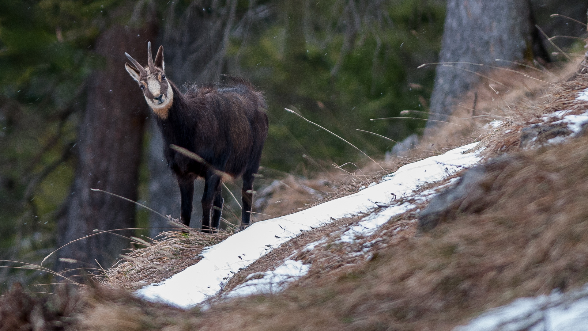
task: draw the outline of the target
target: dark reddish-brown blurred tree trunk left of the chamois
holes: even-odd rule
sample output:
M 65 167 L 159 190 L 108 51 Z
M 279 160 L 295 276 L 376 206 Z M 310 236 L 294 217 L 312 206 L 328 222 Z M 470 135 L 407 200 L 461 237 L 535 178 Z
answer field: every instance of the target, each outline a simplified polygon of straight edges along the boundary
M 135 205 L 99 188 L 136 200 L 143 128 L 148 107 L 136 82 L 124 69 L 125 52 L 146 63 L 147 42 L 156 36 L 155 24 L 141 29 L 115 26 L 101 34 L 96 53 L 105 58 L 102 70 L 88 83 L 88 105 L 78 131 L 78 164 L 65 213 L 58 220 L 57 246 L 88 236 L 93 230 L 135 226 Z M 56 270 L 96 266 L 107 268 L 118 259 L 132 230 L 102 233 L 58 250 Z M 79 272 L 76 272 L 79 273 Z

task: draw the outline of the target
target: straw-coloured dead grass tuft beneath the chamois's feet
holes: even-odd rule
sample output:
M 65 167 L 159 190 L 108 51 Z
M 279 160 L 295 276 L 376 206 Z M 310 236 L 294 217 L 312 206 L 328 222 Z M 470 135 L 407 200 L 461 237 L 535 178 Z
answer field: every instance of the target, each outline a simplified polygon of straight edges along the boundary
M 108 286 L 129 290 L 162 282 L 201 260 L 199 254 L 205 247 L 220 243 L 230 234 L 227 231 L 207 234 L 197 230 L 163 232 L 151 243 L 137 241 L 135 244 L 146 247 L 122 256 L 99 279 Z

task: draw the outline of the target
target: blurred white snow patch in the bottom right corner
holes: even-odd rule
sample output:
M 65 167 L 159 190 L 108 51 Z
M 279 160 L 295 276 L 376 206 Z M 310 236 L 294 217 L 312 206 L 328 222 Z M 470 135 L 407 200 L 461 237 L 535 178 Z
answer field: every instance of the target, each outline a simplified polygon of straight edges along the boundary
M 483 313 L 455 331 L 588 331 L 588 285 L 548 296 L 524 297 Z

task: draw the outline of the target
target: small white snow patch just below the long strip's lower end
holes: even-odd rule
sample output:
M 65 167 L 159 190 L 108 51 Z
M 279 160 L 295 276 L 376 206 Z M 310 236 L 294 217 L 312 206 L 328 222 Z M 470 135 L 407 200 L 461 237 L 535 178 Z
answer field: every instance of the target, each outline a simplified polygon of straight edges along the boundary
M 288 283 L 308 273 L 310 267 L 302 261 L 286 260 L 275 270 L 264 273 L 253 273 L 245 283 L 239 284 L 226 294 L 226 297 L 248 296 L 251 294 L 276 293 L 284 289 Z

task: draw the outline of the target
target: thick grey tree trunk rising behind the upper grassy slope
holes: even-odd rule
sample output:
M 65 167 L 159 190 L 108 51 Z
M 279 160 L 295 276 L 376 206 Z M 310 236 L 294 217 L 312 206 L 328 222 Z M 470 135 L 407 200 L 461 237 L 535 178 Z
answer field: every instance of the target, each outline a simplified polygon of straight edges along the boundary
M 529 1 L 449 0 L 439 62 L 497 66 L 505 63 L 495 61 L 497 58 L 521 61 L 526 57 L 549 62 L 538 38 Z M 479 81 L 467 70 L 487 68 L 464 63 L 437 66 L 429 119 L 446 121 L 457 98 Z M 427 128 L 436 124 L 429 121 Z

